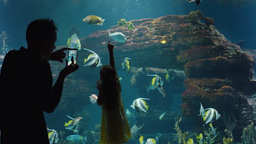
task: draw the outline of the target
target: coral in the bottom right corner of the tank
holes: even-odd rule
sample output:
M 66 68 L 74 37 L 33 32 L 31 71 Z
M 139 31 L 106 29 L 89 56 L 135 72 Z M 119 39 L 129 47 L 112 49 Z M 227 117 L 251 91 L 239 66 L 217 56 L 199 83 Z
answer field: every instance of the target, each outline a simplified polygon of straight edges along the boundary
M 247 125 L 247 128 L 243 129 L 243 134 L 241 136 L 242 143 L 245 142 L 245 143 L 255 144 L 255 137 L 256 137 L 256 130 L 252 122 L 252 124 Z

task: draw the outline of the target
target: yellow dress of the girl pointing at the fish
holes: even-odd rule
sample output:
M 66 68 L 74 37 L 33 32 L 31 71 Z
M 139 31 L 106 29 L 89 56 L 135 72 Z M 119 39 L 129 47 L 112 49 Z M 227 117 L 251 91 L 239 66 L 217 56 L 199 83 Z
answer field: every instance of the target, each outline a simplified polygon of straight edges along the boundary
M 121 87 L 118 88 L 119 109 L 102 108 L 100 144 L 120 144 L 132 137 L 130 126 L 121 100 Z

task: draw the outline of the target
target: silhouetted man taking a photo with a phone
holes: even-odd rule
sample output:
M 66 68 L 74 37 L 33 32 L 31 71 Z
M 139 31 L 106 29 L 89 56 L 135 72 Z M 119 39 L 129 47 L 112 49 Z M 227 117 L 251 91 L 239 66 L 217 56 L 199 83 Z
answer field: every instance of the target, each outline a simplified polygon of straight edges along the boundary
M 4 58 L 0 74 L 1 144 L 49 143 L 43 111 L 55 110 L 65 77 L 79 69 L 66 61 L 53 86 L 48 61 L 63 62 L 68 50 L 53 52 L 56 31 L 53 20 L 32 21 L 26 31 L 27 49 L 11 50 Z

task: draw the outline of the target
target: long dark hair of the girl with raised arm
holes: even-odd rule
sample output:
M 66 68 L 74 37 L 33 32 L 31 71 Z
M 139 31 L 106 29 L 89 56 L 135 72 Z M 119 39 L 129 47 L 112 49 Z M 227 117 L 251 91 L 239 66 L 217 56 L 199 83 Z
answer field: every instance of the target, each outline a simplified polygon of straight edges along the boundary
M 102 96 L 106 101 L 106 109 L 114 109 L 118 106 L 118 76 L 110 65 L 103 65 L 100 71 Z

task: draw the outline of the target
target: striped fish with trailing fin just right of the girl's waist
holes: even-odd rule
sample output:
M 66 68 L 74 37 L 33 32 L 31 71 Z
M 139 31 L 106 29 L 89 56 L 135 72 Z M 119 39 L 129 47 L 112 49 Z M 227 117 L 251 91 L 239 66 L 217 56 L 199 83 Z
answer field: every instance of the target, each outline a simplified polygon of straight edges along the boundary
M 136 110 L 137 112 L 141 112 L 141 111 L 147 112 L 148 105 L 146 101 L 144 101 L 143 99 L 146 99 L 146 98 L 138 98 L 134 100 L 131 105 L 132 109 Z M 147 99 L 147 100 L 151 100 L 151 99 Z

